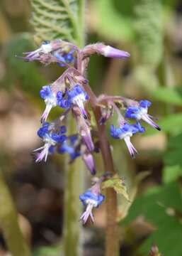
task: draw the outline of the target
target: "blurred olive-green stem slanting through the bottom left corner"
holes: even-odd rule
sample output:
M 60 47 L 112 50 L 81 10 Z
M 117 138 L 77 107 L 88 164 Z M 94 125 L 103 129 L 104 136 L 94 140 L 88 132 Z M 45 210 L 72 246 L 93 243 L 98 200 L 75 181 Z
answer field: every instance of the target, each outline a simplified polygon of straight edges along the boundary
M 3 174 L 0 172 L 0 226 L 6 241 L 8 250 L 13 256 L 30 256 L 30 250 L 26 244 L 21 229 L 18 225 L 18 215 L 14 206 L 11 193 L 8 190 Z

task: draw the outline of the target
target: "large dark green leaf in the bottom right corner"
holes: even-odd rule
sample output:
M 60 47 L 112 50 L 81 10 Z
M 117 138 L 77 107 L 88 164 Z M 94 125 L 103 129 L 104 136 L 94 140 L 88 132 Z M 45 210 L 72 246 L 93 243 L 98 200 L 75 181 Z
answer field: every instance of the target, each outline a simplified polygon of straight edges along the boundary
M 174 211 L 174 215 L 170 215 L 169 210 Z M 140 247 L 144 255 L 155 243 L 165 256 L 181 256 L 182 225 L 175 212 L 182 213 L 181 191 L 177 183 L 169 183 L 137 198 L 122 223 L 128 225 L 137 217 L 144 216 L 144 220 L 157 228 Z

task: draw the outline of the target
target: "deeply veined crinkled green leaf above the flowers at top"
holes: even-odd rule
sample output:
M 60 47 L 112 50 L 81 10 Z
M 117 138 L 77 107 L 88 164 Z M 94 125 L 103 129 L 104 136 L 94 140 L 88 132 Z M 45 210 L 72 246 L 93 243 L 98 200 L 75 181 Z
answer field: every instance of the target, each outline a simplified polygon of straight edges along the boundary
M 61 38 L 83 45 L 84 0 L 30 0 L 30 4 L 36 41 Z

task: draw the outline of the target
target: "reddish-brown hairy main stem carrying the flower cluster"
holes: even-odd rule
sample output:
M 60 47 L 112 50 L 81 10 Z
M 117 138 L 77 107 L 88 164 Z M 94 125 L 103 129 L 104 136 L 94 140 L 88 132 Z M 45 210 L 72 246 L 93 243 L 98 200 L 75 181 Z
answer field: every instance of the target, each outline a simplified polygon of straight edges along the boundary
M 101 146 L 101 154 L 103 157 L 103 164 L 105 172 L 109 172 L 111 175 L 115 174 L 113 165 L 113 157 L 110 151 L 110 145 L 108 137 L 106 135 L 106 127 L 104 124 L 99 124 L 98 120 L 101 118 L 101 110 L 97 106 L 96 95 L 91 90 L 91 87 L 85 85 L 85 90 L 89 95 L 93 113 L 96 118 L 98 128 L 98 139 Z M 118 240 L 118 224 L 117 218 L 117 194 L 113 188 L 108 188 L 106 191 L 106 256 L 117 256 L 119 253 L 119 240 Z

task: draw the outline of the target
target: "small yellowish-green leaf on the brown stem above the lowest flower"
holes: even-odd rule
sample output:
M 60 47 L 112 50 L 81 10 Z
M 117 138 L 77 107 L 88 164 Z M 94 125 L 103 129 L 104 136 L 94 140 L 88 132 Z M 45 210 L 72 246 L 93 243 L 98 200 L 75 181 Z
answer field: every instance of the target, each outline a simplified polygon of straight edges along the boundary
M 122 180 L 122 178 L 110 178 L 108 181 L 103 181 L 102 189 L 105 188 L 114 188 L 116 193 L 123 195 L 127 201 L 130 201 L 125 182 Z

